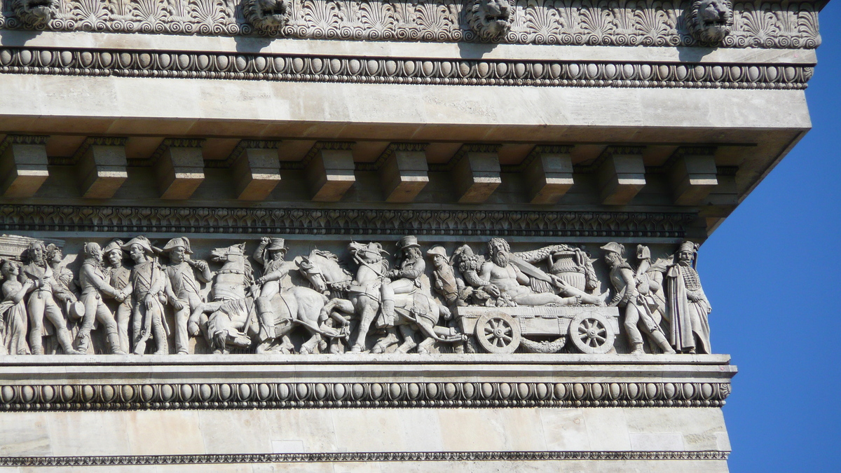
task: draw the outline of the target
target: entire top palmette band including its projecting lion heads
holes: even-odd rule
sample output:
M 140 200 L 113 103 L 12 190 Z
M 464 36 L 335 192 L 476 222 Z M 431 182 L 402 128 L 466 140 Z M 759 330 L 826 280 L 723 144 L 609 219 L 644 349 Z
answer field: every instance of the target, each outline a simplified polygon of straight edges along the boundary
M 0 27 L 54 31 L 538 45 L 722 43 L 812 49 L 820 44 L 815 3 L 785 0 L 5 0 L 3 4 Z

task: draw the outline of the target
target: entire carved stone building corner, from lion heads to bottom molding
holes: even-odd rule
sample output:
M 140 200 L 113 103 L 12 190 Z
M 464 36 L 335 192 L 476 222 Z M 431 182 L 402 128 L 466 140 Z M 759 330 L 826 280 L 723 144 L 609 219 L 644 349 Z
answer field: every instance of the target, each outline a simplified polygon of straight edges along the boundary
M 0 465 L 727 471 L 823 4 L 5 0 Z

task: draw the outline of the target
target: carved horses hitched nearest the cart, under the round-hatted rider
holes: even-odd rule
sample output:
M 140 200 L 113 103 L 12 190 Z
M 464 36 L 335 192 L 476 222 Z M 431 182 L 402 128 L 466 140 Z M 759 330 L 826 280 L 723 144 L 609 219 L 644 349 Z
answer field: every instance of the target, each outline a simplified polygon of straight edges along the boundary
M 359 263 L 357 277 L 341 267 L 336 255 L 331 252 L 313 250 L 308 257 L 300 257 L 299 271 L 315 290 L 322 294 L 330 294 L 331 300 L 322 308 L 321 319 L 332 317 L 335 320 L 352 320 L 354 314 L 359 316 L 360 322 L 356 331 L 355 343 L 351 352 L 361 353 L 365 349 L 365 338 L 368 336 L 371 324 L 380 309 L 380 284 L 383 275 L 389 269 L 388 262 L 383 258 L 383 250 L 379 243 L 363 245 L 351 242 L 348 249 L 353 258 Z M 395 321 L 384 328 L 386 336 L 378 340 L 372 353 L 383 353 L 386 348 L 398 343 L 397 331 L 403 337 L 397 351 L 407 353 L 418 347 L 419 352 L 428 351 L 429 345 L 436 341 L 442 343 L 457 343 L 463 340 L 460 333 L 453 333 L 447 327 L 438 327 L 436 323 L 440 316 L 449 316 L 446 306 L 437 303 L 431 296 L 429 279 L 421 276 L 426 284 L 421 284 L 426 290 L 415 290 L 410 294 L 400 294 L 394 297 Z M 426 339 L 420 345 L 415 343 L 415 327 L 420 328 Z M 338 353 L 338 347 L 331 347 L 331 352 Z

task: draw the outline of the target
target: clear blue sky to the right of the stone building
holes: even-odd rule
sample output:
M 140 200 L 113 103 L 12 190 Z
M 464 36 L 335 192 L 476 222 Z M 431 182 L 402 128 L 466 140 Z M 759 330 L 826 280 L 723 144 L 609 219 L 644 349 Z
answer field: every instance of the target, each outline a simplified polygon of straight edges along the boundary
M 732 471 L 841 470 L 841 2 L 820 23 L 812 130 L 699 257 L 712 348 L 739 368 Z

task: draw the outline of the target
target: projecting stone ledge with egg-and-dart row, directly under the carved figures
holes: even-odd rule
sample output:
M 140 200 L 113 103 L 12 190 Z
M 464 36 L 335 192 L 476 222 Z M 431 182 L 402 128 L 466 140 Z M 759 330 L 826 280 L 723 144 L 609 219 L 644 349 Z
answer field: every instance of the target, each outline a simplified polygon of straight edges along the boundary
M 727 355 L 0 358 L 0 410 L 721 407 Z

